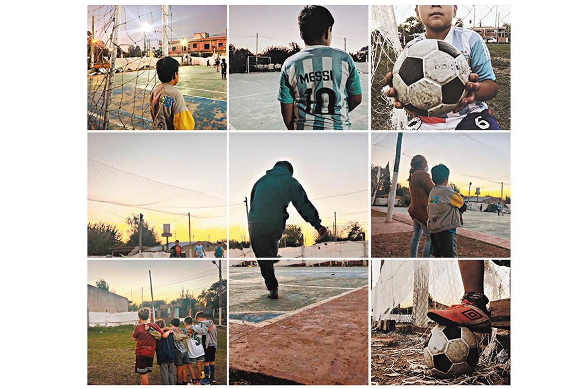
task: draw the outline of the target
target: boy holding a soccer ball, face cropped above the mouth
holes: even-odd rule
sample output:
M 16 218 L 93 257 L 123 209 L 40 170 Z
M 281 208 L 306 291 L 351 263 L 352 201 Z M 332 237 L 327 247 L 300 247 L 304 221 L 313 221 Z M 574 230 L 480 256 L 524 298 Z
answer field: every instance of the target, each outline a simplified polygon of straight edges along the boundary
M 415 116 L 408 122 L 408 129 L 500 129 L 485 104 L 485 101 L 493 99 L 499 92 L 491 65 L 491 54 L 481 36 L 475 31 L 452 25 L 456 11 L 456 5 L 416 6 L 416 15 L 426 27 L 426 31 L 409 41 L 406 47 L 426 38 L 439 39 L 454 45 L 467 58 L 471 68 L 472 73 L 466 84 L 468 94 L 453 112 L 440 117 L 416 115 L 408 111 Z M 385 83 L 390 86 L 386 94 L 394 97 L 394 107 L 404 108 L 404 104 L 395 99 L 391 73 L 385 76 Z

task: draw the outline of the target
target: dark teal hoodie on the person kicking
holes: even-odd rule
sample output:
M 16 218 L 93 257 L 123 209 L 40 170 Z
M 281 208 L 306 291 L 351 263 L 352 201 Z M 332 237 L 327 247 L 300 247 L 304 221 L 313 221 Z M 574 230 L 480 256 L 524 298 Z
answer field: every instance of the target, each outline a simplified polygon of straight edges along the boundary
M 280 166 L 266 171 L 266 175 L 253 185 L 248 222 L 271 224 L 283 232 L 290 216 L 286 212 L 290 202 L 315 229 L 321 226 L 318 211 L 308 200 L 302 185 L 290 171 Z

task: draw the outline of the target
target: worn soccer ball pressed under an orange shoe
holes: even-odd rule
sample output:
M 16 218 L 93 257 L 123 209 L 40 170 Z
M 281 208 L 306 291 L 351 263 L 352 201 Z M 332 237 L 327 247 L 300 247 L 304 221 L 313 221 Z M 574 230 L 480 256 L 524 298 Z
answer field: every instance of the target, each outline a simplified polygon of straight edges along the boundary
M 477 338 L 466 327 L 436 325 L 430 331 L 424 359 L 434 377 L 468 374 L 478 363 Z

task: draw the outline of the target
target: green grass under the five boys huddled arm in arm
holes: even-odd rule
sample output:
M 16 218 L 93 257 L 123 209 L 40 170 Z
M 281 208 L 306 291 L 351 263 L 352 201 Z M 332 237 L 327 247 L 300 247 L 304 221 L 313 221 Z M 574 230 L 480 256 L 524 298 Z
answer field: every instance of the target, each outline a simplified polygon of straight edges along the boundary
M 133 325 L 90 327 L 87 330 L 87 383 L 90 385 L 139 385 L 134 373 L 136 343 Z M 218 328 L 217 385 L 227 384 L 227 332 Z M 196 371 L 196 370 L 195 370 Z M 190 376 L 189 376 L 190 379 Z M 154 358 L 150 384 L 161 384 L 160 370 Z

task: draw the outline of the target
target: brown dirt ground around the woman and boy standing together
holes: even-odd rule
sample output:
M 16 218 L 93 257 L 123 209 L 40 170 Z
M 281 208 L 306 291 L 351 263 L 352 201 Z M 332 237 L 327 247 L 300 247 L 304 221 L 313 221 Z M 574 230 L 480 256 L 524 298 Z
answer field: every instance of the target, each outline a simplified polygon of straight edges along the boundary
M 374 212 L 374 211 L 372 211 Z M 371 236 L 371 257 L 373 258 L 408 258 L 411 232 L 381 234 Z M 418 257 L 426 244 L 426 236 L 422 236 L 418 246 Z M 458 234 L 458 257 L 460 258 L 509 258 L 511 250 L 471 239 Z

